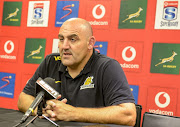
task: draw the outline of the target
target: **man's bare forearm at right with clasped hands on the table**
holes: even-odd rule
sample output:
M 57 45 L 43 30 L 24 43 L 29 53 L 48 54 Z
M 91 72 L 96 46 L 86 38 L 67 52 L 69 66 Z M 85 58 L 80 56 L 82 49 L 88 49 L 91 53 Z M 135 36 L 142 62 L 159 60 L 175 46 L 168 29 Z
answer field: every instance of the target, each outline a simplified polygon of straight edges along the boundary
M 113 123 L 134 126 L 136 108 L 134 103 L 123 103 L 102 108 L 81 108 L 58 100 L 47 101 L 46 116 L 52 120 Z

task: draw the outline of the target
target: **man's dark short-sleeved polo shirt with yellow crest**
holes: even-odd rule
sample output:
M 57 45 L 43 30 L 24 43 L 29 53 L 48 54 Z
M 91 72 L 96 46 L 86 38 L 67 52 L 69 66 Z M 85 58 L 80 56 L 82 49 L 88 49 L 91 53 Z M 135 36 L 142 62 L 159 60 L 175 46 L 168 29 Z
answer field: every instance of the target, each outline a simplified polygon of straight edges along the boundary
M 103 107 L 134 103 L 134 97 L 120 64 L 95 52 L 74 79 L 61 63 L 59 54 L 46 56 L 23 92 L 35 96 L 35 82 L 39 77 L 55 79 L 55 89 L 62 95 L 61 99 L 66 98 L 67 103 L 73 106 Z

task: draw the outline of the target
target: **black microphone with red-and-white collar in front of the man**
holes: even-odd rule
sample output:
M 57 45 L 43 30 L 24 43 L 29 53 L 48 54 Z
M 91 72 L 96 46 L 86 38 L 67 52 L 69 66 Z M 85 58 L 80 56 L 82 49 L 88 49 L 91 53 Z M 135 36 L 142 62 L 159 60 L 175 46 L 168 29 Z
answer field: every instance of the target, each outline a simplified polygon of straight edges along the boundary
M 49 85 L 50 84 L 50 85 Z M 35 100 L 32 102 L 32 104 L 29 106 L 29 109 L 25 112 L 21 119 L 21 123 L 24 123 L 27 118 L 34 112 L 35 108 L 43 101 L 57 98 L 59 96 L 59 93 L 52 87 L 55 87 L 55 80 L 47 77 L 44 80 L 39 77 L 36 81 L 36 93 L 37 96 Z

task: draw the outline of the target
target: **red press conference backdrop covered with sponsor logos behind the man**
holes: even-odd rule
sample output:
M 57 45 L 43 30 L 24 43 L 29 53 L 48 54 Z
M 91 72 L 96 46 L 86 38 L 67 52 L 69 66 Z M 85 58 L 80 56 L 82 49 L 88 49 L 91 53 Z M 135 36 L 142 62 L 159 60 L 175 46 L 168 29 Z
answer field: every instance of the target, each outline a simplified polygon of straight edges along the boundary
M 180 116 L 179 8 L 178 0 L 0 0 L 0 107 L 17 109 L 28 79 L 58 52 L 63 22 L 80 17 L 96 51 L 121 64 L 142 113 Z

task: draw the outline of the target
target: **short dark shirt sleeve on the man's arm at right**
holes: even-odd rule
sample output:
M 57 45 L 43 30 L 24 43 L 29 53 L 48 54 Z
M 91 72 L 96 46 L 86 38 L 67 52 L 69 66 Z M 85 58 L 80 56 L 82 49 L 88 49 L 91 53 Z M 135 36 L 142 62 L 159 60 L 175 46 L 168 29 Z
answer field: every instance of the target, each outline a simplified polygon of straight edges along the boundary
M 116 60 L 110 60 L 103 74 L 105 105 L 135 103 L 123 69 Z

